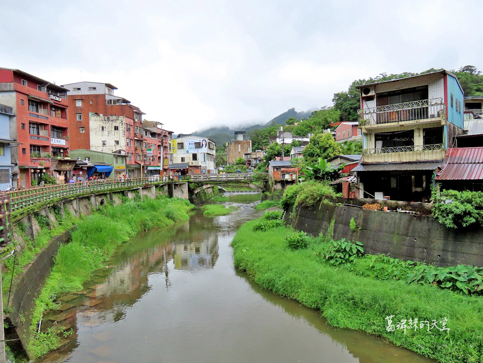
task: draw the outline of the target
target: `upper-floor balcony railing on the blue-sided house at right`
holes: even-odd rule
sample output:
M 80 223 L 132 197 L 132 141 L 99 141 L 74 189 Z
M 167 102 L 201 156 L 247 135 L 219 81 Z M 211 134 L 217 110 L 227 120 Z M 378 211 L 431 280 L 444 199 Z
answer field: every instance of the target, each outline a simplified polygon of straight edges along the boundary
M 442 97 L 359 109 L 359 126 L 442 118 Z

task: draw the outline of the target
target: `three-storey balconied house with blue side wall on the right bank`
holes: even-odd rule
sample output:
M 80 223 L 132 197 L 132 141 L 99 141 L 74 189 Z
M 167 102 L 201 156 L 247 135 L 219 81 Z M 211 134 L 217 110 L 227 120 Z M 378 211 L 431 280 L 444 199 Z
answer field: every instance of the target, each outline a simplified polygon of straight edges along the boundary
M 427 201 L 445 150 L 463 134 L 463 90 L 448 71 L 358 86 L 360 198 Z

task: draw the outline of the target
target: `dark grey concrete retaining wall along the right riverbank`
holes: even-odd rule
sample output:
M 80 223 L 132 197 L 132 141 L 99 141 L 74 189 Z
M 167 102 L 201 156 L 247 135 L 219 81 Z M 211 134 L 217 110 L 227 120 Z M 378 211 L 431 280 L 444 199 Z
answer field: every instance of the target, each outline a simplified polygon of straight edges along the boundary
M 363 242 L 365 252 L 369 254 L 386 254 L 436 266 L 483 266 L 483 229 L 448 229 L 428 215 L 321 203 L 313 209 L 297 207 L 295 213 L 290 208 L 285 218 L 294 228 L 312 235 L 325 234 L 334 220 L 334 239 Z M 351 231 L 351 218 L 360 230 Z

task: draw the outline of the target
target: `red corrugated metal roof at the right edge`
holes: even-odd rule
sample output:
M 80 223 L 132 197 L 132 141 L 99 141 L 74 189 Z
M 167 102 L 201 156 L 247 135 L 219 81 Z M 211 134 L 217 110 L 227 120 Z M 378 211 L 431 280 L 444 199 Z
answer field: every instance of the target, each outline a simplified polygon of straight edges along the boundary
M 448 149 L 436 180 L 483 180 L 483 147 Z

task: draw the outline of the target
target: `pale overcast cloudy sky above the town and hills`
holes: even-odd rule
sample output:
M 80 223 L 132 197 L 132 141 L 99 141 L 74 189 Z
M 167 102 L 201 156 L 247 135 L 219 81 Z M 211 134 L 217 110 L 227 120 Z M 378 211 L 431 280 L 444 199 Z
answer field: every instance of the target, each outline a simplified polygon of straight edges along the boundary
M 331 105 L 382 72 L 483 70 L 482 12 L 479 0 L 3 0 L 0 66 L 112 83 L 189 133 Z

